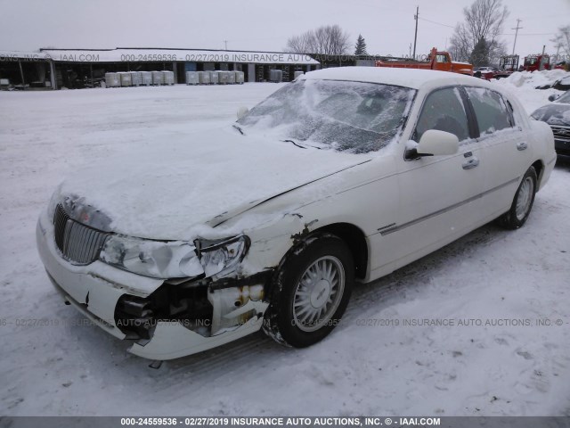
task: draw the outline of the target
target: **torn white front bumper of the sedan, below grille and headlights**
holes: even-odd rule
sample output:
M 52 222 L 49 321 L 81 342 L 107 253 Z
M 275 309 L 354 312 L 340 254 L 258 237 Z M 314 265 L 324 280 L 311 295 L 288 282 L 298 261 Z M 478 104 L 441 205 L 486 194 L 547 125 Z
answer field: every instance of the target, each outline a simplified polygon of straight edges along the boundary
M 123 333 L 117 325 L 115 317 L 121 297 L 127 295 L 147 298 L 164 284 L 162 280 L 131 274 L 112 268 L 101 261 L 95 261 L 87 266 L 75 266 L 62 259 L 55 246 L 53 224 L 46 210 L 37 222 L 36 238 L 37 249 L 45 270 L 63 299 L 94 324 L 119 339 L 127 338 L 126 333 Z M 259 285 L 264 285 L 261 281 L 260 277 Z M 239 283 L 236 287 L 238 285 Z M 239 309 L 240 314 L 235 315 L 238 309 L 228 309 L 227 303 L 234 298 L 232 291 L 238 292 L 236 287 L 212 291 L 212 297 L 208 299 L 212 301 L 215 319 L 224 321 L 233 314 L 233 317 L 240 317 L 242 320 L 238 325 L 218 325 L 219 328 L 213 329 L 214 333 L 207 337 L 175 320 L 157 321 L 150 340 L 134 342 L 129 351 L 143 358 L 159 360 L 180 358 L 215 348 L 258 331 L 263 325 L 263 314 L 268 304 L 262 299 L 248 298 L 243 300 L 244 305 Z M 250 285 L 249 288 L 253 290 Z

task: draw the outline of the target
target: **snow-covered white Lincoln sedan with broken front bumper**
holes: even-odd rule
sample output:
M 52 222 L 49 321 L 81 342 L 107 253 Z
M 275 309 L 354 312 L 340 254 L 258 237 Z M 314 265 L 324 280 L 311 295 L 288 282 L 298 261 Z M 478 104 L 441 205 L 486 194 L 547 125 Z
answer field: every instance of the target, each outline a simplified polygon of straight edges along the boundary
M 39 218 L 55 288 L 135 355 L 262 328 L 318 342 L 354 283 L 493 219 L 523 226 L 556 160 L 516 98 L 440 71 L 314 71 L 242 113 L 81 169 Z

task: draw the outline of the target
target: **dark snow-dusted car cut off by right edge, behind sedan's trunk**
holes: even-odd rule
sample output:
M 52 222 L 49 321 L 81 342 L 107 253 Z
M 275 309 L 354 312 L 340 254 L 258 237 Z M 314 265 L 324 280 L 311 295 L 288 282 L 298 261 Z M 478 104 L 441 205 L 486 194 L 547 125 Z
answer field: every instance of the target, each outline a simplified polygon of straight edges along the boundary
M 570 156 L 570 91 L 563 95 L 550 95 L 553 103 L 533 111 L 531 117 L 549 124 L 554 134 L 554 147 L 558 155 Z

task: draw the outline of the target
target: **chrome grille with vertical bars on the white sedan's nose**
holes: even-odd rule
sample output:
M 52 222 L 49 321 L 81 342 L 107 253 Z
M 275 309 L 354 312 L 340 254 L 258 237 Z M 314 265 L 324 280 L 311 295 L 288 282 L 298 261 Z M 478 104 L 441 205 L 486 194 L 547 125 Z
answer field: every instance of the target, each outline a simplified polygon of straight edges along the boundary
M 99 259 L 102 246 L 109 236 L 69 218 L 61 205 L 55 208 L 53 226 L 55 243 L 63 257 L 80 265 L 88 265 Z

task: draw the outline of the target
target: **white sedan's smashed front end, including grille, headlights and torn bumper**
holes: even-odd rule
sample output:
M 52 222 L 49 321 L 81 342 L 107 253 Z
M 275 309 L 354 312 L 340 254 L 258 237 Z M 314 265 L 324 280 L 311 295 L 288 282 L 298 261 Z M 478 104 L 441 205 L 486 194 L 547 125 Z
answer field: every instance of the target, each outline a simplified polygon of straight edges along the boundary
M 100 211 L 66 198 L 40 216 L 37 244 L 63 299 L 108 333 L 134 341 L 129 351 L 179 358 L 261 328 L 273 268 L 244 271 L 247 235 L 152 241 L 109 225 Z

